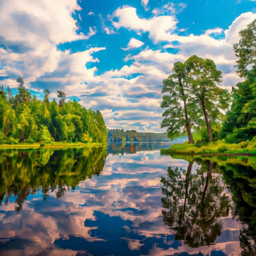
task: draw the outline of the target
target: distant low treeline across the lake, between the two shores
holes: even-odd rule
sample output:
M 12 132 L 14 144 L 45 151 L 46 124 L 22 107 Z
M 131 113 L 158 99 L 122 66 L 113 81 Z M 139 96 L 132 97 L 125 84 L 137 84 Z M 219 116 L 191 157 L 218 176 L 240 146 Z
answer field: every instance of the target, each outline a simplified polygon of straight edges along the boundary
M 124 141 L 148 141 L 148 142 L 161 142 L 170 141 L 167 133 L 153 133 L 153 132 L 137 132 L 135 130 L 113 129 L 108 130 L 108 143 L 111 142 L 124 142 Z

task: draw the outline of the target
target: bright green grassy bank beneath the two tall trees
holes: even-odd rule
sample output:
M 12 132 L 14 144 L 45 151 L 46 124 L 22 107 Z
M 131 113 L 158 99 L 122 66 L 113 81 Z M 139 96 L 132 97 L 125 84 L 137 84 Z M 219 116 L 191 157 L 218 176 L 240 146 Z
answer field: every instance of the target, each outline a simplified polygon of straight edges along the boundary
M 253 154 L 256 155 L 256 138 L 251 141 L 243 141 L 239 144 L 227 144 L 224 140 L 212 141 L 210 143 L 173 144 L 171 148 L 162 149 L 163 154 L 176 155 L 205 155 L 205 154 Z

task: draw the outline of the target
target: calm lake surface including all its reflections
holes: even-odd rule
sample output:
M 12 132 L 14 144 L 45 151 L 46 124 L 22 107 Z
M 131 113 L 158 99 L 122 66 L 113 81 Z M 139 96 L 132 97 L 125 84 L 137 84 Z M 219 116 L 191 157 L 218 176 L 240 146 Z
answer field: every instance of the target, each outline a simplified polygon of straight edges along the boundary
M 0 255 L 256 255 L 256 158 L 163 147 L 0 151 Z

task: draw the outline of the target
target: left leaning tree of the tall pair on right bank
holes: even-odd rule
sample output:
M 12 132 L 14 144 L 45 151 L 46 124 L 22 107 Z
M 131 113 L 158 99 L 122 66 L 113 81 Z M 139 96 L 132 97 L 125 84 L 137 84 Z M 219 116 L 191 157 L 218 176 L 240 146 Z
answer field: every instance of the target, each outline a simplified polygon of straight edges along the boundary
M 184 130 L 188 135 L 189 143 L 193 144 L 193 136 L 187 109 L 187 95 L 184 86 L 187 80 L 187 72 L 184 63 L 176 62 L 173 66 L 173 74 L 163 81 L 163 95 L 161 108 L 167 108 L 162 114 L 164 120 L 161 127 L 167 128 L 170 139 L 184 135 Z M 181 104 L 183 102 L 183 106 Z

